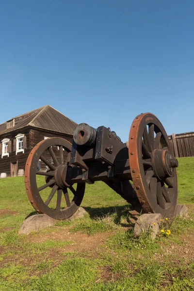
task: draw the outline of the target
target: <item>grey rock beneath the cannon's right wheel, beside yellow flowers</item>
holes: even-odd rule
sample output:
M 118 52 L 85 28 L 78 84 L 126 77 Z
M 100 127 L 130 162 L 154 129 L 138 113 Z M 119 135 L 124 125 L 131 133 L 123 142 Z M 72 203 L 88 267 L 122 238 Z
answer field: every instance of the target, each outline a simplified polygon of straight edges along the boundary
M 156 238 L 160 230 L 162 215 L 160 213 L 145 213 L 141 215 L 135 223 L 134 233 L 140 234 L 150 231 L 151 239 Z

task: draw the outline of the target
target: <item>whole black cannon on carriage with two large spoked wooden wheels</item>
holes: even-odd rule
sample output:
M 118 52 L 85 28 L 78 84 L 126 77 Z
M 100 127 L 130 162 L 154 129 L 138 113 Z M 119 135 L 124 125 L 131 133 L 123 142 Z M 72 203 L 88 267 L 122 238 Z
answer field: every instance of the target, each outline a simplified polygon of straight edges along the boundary
M 45 171 L 37 170 L 39 159 Z M 161 122 L 141 113 L 132 122 L 128 146 L 110 128 L 85 123 L 74 130 L 72 144 L 59 137 L 41 141 L 27 159 L 25 188 L 37 212 L 58 220 L 78 210 L 85 183 L 99 180 L 132 206 L 169 217 L 178 198 L 176 167 Z

